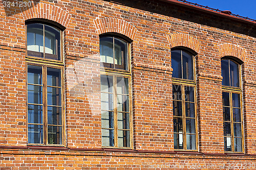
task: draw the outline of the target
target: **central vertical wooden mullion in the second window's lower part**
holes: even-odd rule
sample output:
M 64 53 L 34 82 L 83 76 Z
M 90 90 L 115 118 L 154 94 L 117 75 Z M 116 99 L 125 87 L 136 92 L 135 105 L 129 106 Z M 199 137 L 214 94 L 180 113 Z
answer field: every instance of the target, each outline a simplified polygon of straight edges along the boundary
M 118 147 L 118 130 L 117 130 L 117 92 L 116 92 L 116 75 L 113 75 L 113 104 L 114 104 L 114 145 Z

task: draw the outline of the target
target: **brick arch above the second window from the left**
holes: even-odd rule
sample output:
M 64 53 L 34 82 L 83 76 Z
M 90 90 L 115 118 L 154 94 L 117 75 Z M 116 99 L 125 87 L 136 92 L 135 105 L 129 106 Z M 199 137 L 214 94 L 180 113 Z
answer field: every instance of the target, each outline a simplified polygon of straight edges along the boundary
M 97 18 L 94 20 L 98 34 L 115 32 L 135 40 L 137 29 L 131 23 L 117 18 Z

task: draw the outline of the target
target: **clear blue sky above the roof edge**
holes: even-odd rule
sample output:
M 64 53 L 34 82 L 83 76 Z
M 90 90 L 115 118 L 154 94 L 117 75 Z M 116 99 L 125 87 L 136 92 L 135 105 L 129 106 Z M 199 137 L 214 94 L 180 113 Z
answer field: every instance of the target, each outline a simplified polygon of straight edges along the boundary
M 256 19 L 256 0 L 186 0 L 190 3 L 208 6 L 221 11 L 228 10 L 232 14 Z

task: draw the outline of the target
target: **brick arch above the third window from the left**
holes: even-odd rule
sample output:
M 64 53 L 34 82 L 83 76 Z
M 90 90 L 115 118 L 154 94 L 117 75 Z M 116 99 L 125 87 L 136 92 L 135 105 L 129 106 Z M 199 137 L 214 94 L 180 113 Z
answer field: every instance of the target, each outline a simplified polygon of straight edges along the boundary
M 178 34 L 167 35 L 167 39 L 169 41 L 171 48 L 176 46 L 185 46 L 199 53 L 200 41 L 193 36 L 178 33 Z

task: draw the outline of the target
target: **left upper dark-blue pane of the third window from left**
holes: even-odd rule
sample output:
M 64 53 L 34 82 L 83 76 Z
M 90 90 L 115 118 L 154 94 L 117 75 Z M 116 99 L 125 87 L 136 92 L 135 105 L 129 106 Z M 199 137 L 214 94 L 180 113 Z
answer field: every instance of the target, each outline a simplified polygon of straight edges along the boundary
M 172 57 L 172 68 L 173 68 L 173 77 L 182 79 L 181 72 L 181 51 L 173 50 L 171 53 Z

